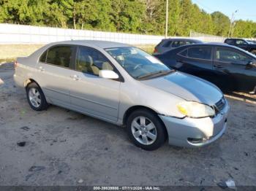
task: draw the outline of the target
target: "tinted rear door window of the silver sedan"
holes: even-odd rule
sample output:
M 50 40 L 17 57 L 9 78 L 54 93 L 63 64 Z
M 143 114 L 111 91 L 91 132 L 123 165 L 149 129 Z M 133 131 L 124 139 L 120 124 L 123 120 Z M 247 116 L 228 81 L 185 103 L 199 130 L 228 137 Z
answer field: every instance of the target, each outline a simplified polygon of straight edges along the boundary
M 74 47 L 56 46 L 48 49 L 46 63 L 69 68 Z

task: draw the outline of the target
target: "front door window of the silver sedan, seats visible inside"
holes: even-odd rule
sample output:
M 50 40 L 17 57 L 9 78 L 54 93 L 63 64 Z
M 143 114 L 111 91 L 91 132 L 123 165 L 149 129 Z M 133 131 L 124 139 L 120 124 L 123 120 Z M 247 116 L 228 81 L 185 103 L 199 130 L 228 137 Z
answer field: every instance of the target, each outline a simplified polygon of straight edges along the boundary
M 76 69 L 95 76 L 100 70 L 114 70 L 105 55 L 90 47 L 78 47 Z

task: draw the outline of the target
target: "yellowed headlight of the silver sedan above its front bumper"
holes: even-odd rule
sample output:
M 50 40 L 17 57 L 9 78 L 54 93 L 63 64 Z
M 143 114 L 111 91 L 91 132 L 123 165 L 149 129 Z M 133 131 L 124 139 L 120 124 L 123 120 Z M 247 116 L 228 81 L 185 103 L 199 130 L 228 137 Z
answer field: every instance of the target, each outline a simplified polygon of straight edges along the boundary
M 177 105 L 178 111 L 187 117 L 212 117 L 215 111 L 211 106 L 200 104 L 195 101 L 183 101 Z

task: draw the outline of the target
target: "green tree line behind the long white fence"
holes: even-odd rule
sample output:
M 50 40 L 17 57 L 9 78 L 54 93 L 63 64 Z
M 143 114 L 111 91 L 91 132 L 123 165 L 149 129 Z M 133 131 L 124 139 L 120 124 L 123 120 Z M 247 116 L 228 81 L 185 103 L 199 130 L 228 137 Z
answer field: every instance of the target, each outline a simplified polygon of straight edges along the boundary
M 0 0 L 0 23 L 165 34 L 166 0 Z M 168 36 L 197 31 L 227 36 L 230 18 L 191 0 L 169 0 Z M 256 23 L 236 20 L 233 36 L 256 37 Z

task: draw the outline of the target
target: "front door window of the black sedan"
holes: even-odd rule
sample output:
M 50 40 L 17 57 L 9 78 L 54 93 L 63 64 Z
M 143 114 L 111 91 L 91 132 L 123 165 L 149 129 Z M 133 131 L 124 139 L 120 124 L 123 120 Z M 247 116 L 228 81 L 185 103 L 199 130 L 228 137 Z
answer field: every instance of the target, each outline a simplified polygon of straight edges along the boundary
M 217 48 L 216 60 L 228 63 L 247 64 L 252 61 L 252 58 L 249 58 L 249 56 L 246 56 L 240 52 L 228 50 L 225 48 Z

